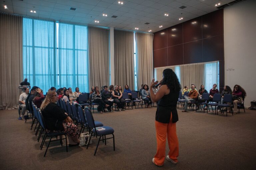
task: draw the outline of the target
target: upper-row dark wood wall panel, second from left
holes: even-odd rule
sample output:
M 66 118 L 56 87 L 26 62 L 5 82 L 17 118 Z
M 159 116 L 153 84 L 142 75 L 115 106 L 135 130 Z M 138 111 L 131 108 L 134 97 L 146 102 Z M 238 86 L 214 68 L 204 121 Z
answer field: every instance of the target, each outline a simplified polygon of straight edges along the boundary
M 183 43 L 182 23 L 167 29 L 167 45 L 173 46 Z

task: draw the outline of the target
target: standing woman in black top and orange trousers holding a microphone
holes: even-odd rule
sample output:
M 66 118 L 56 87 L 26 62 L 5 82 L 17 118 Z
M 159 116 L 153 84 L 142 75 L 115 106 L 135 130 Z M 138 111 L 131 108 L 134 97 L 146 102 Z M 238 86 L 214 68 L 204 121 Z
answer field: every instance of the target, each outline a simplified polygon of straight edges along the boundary
M 155 119 L 157 151 L 152 162 L 156 166 L 163 166 L 166 158 L 166 160 L 176 164 L 179 156 L 179 142 L 176 134 L 176 122 L 178 121 L 176 105 L 181 86 L 176 74 L 169 68 L 163 71 L 163 79 L 160 81 L 161 87 L 156 94 L 152 90 L 155 85 L 154 81 L 155 79 L 150 84 L 150 97 L 152 102 L 158 102 Z M 166 136 L 170 151 L 165 156 Z

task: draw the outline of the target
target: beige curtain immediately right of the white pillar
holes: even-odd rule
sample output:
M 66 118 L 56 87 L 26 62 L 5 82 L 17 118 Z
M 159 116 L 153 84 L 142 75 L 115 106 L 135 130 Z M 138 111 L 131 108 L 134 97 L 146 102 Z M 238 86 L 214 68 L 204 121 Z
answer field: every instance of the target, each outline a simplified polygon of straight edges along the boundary
M 134 89 L 134 38 L 132 31 L 114 30 L 115 84 Z

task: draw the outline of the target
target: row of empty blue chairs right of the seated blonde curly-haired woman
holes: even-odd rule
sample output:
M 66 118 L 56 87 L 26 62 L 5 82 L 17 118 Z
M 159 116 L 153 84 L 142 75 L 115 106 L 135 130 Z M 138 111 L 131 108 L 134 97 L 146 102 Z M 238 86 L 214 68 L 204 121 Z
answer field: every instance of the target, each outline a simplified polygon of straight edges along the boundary
M 95 135 L 96 137 L 99 136 L 98 143 L 94 152 L 94 155 L 96 155 L 97 148 L 99 145 L 100 141 L 105 141 L 106 145 L 106 139 L 111 139 L 113 138 L 113 147 L 115 150 L 115 137 L 114 137 L 114 129 L 108 126 L 104 126 L 101 122 L 99 121 L 94 121 L 92 113 L 90 108 L 82 108 L 82 105 L 77 104 L 77 103 L 70 103 L 70 102 L 65 102 L 63 100 L 59 100 L 57 104 L 65 110 L 66 113 L 72 118 L 72 120 L 75 122 L 75 125 L 81 126 L 80 133 L 83 133 L 84 130 L 86 129 L 89 131 L 89 142 L 87 145 L 87 149 L 91 140 L 91 136 Z M 85 106 L 85 105 L 84 105 Z M 104 130 L 98 131 L 95 130 L 97 128 L 104 128 Z M 106 135 L 112 135 L 112 137 L 106 138 Z M 102 138 L 102 139 L 101 139 Z

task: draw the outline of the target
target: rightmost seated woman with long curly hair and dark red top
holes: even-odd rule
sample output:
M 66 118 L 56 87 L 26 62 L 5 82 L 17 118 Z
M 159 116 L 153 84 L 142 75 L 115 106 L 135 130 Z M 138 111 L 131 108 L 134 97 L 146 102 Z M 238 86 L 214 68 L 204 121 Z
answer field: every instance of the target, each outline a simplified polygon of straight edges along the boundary
M 234 104 L 234 114 L 236 114 L 237 104 L 243 102 L 244 98 L 246 97 L 246 92 L 241 86 L 236 84 L 232 91 L 232 97 L 233 97 L 233 104 Z

